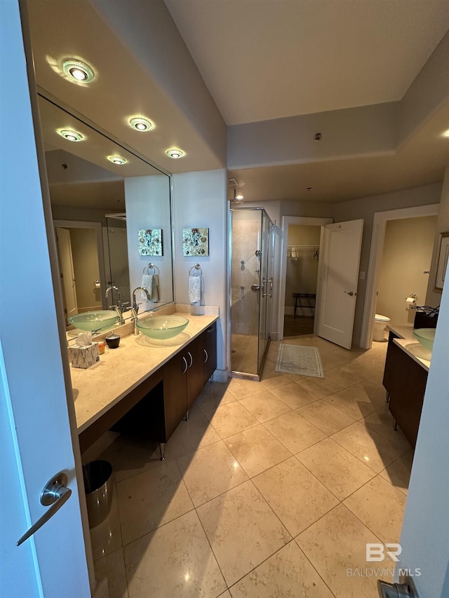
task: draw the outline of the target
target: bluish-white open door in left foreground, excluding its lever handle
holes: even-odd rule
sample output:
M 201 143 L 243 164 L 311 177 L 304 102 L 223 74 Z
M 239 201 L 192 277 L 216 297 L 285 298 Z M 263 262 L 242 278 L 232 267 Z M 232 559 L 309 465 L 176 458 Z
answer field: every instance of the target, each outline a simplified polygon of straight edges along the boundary
M 67 402 L 17 0 L 0 2 L 0 69 L 0 595 L 88 598 L 74 405 Z M 60 297 L 58 311 L 63 322 Z M 41 491 L 61 471 L 72 495 L 17 546 L 48 511 Z M 82 508 L 86 522 L 85 502 Z

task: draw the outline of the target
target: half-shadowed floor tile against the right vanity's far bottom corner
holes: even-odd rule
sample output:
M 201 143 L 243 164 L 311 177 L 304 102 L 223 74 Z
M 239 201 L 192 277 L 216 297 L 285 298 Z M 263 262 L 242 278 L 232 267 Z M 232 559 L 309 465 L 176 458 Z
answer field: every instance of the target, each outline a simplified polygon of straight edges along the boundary
M 363 381 L 326 397 L 330 405 L 354 419 L 361 419 L 385 405 L 385 391 L 382 386 Z

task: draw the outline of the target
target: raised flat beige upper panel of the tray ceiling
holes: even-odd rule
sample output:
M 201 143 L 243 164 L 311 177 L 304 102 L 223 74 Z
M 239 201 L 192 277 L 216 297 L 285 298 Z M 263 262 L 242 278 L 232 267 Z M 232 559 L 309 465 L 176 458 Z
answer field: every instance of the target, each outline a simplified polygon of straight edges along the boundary
M 164 0 L 227 125 L 401 100 L 447 0 Z

